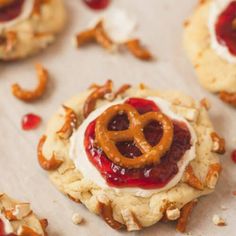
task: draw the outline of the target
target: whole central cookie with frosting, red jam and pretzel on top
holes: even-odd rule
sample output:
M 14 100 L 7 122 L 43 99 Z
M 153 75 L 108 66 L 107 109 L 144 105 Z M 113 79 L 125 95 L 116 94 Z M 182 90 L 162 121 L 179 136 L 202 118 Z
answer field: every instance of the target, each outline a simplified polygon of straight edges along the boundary
M 144 85 L 93 85 L 49 121 L 38 161 L 62 193 L 115 229 L 178 220 L 184 231 L 186 212 L 214 190 L 224 153 L 204 104 Z

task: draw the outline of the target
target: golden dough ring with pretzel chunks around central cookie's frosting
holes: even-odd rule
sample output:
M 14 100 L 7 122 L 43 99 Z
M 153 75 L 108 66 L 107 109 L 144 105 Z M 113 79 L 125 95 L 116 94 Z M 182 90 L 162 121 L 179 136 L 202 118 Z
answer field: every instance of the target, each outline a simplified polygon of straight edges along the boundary
M 67 109 L 72 109 L 73 119 L 76 117 L 78 126 L 84 120 L 84 105 L 96 89 L 99 87 L 92 87 L 63 104 Z M 224 152 L 224 141 L 215 133 L 204 103 L 195 102 L 192 98 L 175 91 L 156 91 L 143 85 L 119 91 L 115 101 L 128 97 L 150 96 L 168 101 L 171 103 L 172 111 L 185 117 L 194 129 L 197 136 L 196 158 L 191 161 L 176 186 L 162 192 L 154 192 L 150 196 L 141 196 L 116 192 L 111 188 L 105 189 L 92 179 L 84 177 L 69 156 L 69 137 L 75 126 L 72 125 L 71 129 L 68 129 L 68 126 L 65 128 L 69 114 L 65 113 L 65 107 L 52 117 L 45 135 L 39 142 L 39 162 L 48 170 L 51 181 L 62 193 L 76 202 L 82 202 L 91 212 L 101 215 L 115 229 L 124 226 L 128 231 L 140 230 L 163 219 L 177 220 L 181 218 L 181 211 L 186 209 L 188 204 L 214 190 L 220 172 L 217 153 Z M 111 98 L 116 97 L 115 94 L 109 92 L 103 99 L 98 99 L 96 109 L 109 104 Z M 181 222 L 178 225 L 181 225 Z M 179 230 L 184 231 L 181 227 Z

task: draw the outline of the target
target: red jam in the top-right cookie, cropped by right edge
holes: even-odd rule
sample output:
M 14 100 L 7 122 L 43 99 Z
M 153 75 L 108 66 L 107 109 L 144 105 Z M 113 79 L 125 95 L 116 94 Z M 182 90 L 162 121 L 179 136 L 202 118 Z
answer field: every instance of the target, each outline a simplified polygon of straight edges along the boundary
M 221 13 L 216 22 L 215 30 L 220 44 L 228 47 L 230 53 L 236 56 L 236 1 L 232 1 Z M 234 23 L 233 23 L 234 21 Z

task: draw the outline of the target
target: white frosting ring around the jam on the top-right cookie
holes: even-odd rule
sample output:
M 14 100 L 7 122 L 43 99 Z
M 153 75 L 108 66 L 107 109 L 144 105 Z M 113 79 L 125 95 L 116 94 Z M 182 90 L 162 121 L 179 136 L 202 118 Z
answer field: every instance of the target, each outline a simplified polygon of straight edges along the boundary
M 232 55 L 226 45 L 218 42 L 215 24 L 218 20 L 219 15 L 225 10 L 232 0 L 215 0 L 212 1 L 209 11 L 208 27 L 211 36 L 211 47 L 215 52 L 228 61 L 229 63 L 236 63 L 236 56 Z

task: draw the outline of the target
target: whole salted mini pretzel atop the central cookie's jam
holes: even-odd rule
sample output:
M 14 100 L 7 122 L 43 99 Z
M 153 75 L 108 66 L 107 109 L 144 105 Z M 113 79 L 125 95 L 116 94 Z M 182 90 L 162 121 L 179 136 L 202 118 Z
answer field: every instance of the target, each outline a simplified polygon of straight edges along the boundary
M 126 113 L 129 119 L 129 128 L 122 131 L 109 131 L 108 124 L 117 114 Z M 163 127 L 163 136 L 160 142 L 152 147 L 145 139 L 143 129 L 150 121 L 158 121 Z M 163 113 L 148 112 L 139 115 L 129 104 L 119 104 L 108 108 L 98 117 L 95 127 L 96 140 L 107 157 L 119 166 L 126 168 L 143 168 L 147 165 L 160 163 L 161 157 L 168 151 L 173 140 L 172 121 Z M 117 142 L 134 141 L 143 153 L 136 158 L 123 156 L 116 147 Z

